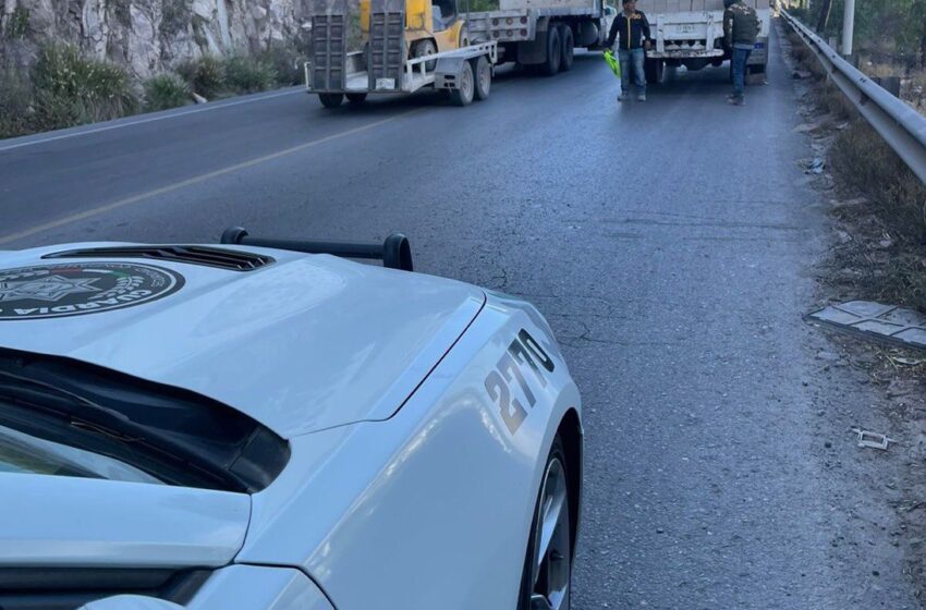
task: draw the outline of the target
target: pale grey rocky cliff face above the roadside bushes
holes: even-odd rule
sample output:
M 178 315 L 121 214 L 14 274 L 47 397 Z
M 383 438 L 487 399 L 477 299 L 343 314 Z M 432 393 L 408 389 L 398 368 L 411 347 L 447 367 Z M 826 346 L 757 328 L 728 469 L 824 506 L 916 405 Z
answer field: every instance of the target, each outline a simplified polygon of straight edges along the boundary
M 302 0 L 0 0 L 0 52 L 72 42 L 143 80 L 202 56 L 302 47 L 306 21 Z

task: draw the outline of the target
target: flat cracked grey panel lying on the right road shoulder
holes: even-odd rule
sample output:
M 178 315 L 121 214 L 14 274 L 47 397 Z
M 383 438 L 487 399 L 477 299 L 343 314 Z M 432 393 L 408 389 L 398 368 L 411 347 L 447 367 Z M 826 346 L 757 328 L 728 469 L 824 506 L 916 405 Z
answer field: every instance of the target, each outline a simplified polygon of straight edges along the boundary
M 914 309 L 849 301 L 814 312 L 807 319 L 894 345 L 926 350 L 926 315 Z

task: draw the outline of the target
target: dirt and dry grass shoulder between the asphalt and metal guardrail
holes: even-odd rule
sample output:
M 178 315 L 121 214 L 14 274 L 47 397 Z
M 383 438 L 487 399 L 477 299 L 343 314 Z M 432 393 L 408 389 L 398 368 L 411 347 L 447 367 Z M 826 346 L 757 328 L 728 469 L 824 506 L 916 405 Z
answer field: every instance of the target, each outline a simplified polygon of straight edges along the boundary
M 814 269 L 817 305 L 867 300 L 926 309 L 926 187 L 820 78 L 788 26 L 778 26 L 801 100 L 797 130 L 808 141 L 808 156 L 797 162 L 826 202 L 832 227 L 830 247 Z M 858 583 L 860 590 L 877 590 L 878 565 L 897 553 L 926 608 L 926 352 L 808 327 L 818 350 L 814 378 L 840 383 L 839 395 L 815 404 L 816 432 L 825 439 L 818 450 L 844 490 L 832 500 L 853 528 L 832 546 L 853 545 L 855 561 L 870 562 L 873 578 Z M 895 442 L 886 451 L 860 448 L 853 428 Z

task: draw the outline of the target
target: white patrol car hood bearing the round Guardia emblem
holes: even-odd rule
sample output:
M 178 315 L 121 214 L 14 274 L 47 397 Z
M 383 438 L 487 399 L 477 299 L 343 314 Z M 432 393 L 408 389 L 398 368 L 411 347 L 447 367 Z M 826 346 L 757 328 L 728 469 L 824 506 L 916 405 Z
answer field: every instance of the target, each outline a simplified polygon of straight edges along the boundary
M 485 303 L 473 286 L 327 255 L 247 271 L 172 259 L 0 252 L 0 347 L 192 390 L 283 438 L 386 419 Z

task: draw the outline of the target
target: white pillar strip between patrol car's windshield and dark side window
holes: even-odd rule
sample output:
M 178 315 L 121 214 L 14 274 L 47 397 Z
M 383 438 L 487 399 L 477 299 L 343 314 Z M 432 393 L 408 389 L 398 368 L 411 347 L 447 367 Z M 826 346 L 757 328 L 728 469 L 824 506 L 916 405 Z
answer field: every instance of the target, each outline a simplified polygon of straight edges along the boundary
M 0 568 L 226 565 L 251 513 L 242 493 L 29 474 L 0 474 Z

